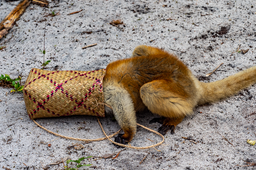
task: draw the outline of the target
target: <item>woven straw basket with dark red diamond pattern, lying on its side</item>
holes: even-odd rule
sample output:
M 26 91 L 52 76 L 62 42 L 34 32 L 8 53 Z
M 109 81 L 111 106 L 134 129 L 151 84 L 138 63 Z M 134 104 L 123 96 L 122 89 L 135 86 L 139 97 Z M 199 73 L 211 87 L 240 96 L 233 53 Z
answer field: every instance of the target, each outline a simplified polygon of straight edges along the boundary
M 31 69 L 23 95 L 30 119 L 67 115 L 105 116 L 102 80 L 106 69 L 47 71 Z

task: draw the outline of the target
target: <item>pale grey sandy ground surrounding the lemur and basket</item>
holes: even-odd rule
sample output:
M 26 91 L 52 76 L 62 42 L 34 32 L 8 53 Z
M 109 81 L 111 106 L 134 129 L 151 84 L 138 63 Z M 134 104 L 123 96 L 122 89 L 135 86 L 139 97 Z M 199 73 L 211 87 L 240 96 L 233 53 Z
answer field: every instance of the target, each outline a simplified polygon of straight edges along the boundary
M 18 3 L 0 0 L 0 20 Z M 67 15 L 80 10 L 83 11 Z M 51 11 L 60 15 L 47 18 L 45 57 L 52 60 L 47 65 L 48 70 L 106 68 L 111 61 L 130 57 L 140 44 L 162 47 L 174 53 L 204 82 L 219 80 L 255 65 L 256 2 L 253 0 L 60 0 L 51 1 L 49 8 L 30 4 L 17 25 L 0 40 L 0 46 L 6 47 L 0 50 L 0 74 L 16 78 L 23 72 L 22 81 L 25 81 L 31 68 L 41 68 L 43 54 L 40 50 L 44 48 L 45 26 L 42 20 L 44 13 Z M 121 19 L 125 25 L 120 25 L 122 28 L 112 26 L 109 22 L 113 19 Z M 82 49 L 94 43 L 97 45 Z M 248 48 L 246 54 L 239 52 Z M 224 64 L 206 78 L 205 74 L 220 63 Z M 10 91 L 0 87 L 2 168 L 43 169 L 68 153 L 74 160 L 100 157 L 123 149 L 107 140 L 85 143 L 58 138 L 35 127 L 27 115 L 22 93 Z M 186 117 L 174 135 L 166 134 L 164 145 L 156 147 L 160 152 L 153 148 L 126 149 L 116 159 L 85 159 L 83 163 L 92 166 L 79 169 L 255 169 L 256 166 L 243 166 L 248 165 L 244 161 L 256 160 L 256 146 L 246 143 L 247 139 L 256 139 L 255 94 L 254 85 L 226 100 L 196 107 L 194 115 Z M 149 124 L 154 117 L 152 114 L 137 115 L 138 123 L 157 130 L 160 124 Z M 107 134 L 119 129 L 111 117 L 100 118 L 100 121 Z M 65 136 L 89 139 L 104 136 L 93 116 L 41 118 L 37 122 Z M 181 137 L 197 142 L 194 144 Z M 161 137 L 140 129 L 131 145 L 148 146 L 160 141 Z M 74 149 L 72 146 L 76 143 L 84 148 Z

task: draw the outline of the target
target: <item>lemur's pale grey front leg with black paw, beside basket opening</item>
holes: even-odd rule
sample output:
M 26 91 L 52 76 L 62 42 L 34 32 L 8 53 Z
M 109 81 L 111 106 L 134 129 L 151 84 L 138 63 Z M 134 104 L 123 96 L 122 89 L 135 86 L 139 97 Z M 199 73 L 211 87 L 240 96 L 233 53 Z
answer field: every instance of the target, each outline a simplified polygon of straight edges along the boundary
M 136 112 L 130 94 L 118 85 L 103 86 L 104 102 L 113 108 L 113 114 L 124 135 L 117 136 L 115 142 L 130 142 L 137 129 Z

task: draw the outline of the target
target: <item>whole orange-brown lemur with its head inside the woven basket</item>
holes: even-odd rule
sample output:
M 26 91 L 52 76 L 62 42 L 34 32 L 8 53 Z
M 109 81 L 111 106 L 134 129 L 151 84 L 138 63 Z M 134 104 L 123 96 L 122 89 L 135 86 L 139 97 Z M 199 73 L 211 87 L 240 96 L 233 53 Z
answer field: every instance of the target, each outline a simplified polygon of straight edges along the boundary
M 195 78 L 175 55 L 160 48 L 140 45 L 131 58 L 109 63 L 103 79 L 106 112 L 113 112 L 124 135 L 115 141 L 125 144 L 136 133 L 136 112 L 148 109 L 161 118 L 150 122 L 163 125 L 165 135 L 183 118 L 193 113 L 196 105 L 215 102 L 236 94 L 256 83 L 256 66 L 219 81 L 204 83 Z

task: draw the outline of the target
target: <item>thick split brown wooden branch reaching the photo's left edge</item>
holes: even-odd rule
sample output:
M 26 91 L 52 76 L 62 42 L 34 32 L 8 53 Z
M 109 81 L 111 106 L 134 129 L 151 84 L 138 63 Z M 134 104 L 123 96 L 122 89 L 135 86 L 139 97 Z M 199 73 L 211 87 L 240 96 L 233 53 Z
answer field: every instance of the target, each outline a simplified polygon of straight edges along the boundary
M 2 39 L 8 30 L 13 27 L 15 22 L 19 20 L 20 16 L 25 12 L 31 0 L 23 0 L 18 4 L 7 17 L 0 23 L 0 39 Z

